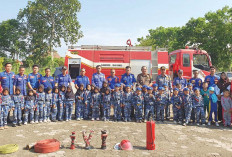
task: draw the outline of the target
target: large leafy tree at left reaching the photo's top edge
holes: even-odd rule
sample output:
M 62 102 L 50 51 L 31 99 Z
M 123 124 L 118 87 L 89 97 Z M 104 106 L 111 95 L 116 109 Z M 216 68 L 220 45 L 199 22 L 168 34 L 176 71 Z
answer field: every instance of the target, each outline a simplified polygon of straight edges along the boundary
M 18 18 L 26 23 L 34 61 L 61 46 L 61 39 L 74 44 L 83 36 L 77 20 L 80 9 L 78 0 L 35 0 L 20 10 Z

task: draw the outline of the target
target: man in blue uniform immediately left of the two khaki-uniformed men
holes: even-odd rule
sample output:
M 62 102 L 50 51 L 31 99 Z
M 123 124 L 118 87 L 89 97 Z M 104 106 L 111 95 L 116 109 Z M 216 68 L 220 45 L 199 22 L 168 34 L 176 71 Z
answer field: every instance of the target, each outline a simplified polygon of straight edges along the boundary
M 126 67 L 126 73 L 122 75 L 121 83 L 123 83 L 124 86 L 129 85 L 131 87 L 133 87 L 133 85 L 136 83 L 134 74 L 131 74 L 130 66 Z

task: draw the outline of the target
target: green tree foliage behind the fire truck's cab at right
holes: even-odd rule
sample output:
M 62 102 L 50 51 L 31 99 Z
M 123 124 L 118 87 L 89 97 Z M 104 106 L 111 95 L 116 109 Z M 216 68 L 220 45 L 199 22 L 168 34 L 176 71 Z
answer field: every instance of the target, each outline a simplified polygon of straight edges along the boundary
M 232 8 L 228 6 L 208 12 L 204 17 L 191 18 L 183 27 L 158 27 L 149 30 L 145 38 L 138 38 L 139 45 L 168 47 L 169 51 L 185 45 L 199 45 L 212 58 L 219 70 L 231 70 L 232 63 Z

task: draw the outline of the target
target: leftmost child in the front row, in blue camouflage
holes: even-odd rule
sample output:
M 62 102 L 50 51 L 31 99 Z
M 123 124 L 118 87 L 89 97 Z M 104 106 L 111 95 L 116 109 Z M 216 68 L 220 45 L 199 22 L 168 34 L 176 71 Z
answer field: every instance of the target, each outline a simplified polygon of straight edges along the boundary
M 0 113 L 0 130 L 7 129 L 7 116 L 12 106 L 12 100 L 9 95 L 9 89 L 4 88 L 2 91 L 1 113 Z

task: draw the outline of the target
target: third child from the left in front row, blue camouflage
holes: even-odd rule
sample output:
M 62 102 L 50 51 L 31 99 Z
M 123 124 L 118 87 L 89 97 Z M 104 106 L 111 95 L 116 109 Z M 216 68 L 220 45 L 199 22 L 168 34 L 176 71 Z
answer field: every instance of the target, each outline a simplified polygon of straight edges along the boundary
M 27 96 L 25 98 L 25 107 L 24 107 L 24 124 L 27 125 L 28 117 L 29 122 L 34 124 L 34 111 L 35 111 L 35 97 L 33 95 L 33 90 L 29 89 Z

